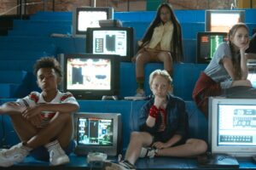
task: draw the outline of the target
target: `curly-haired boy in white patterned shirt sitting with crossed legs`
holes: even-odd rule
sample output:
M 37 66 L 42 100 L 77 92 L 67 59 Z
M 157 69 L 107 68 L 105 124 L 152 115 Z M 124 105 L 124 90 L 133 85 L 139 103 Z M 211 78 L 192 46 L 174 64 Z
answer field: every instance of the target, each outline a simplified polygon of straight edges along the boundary
M 0 106 L 0 114 L 10 116 L 21 141 L 9 150 L 0 151 L 0 167 L 21 162 L 30 153 L 39 160 L 48 159 L 51 166 L 69 162 L 66 153 L 73 137 L 72 114 L 79 110 L 79 104 L 73 94 L 57 89 L 62 73 L 55 58 L 38 59 L 34 73 L 41 93 L 32 92 Z

